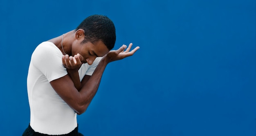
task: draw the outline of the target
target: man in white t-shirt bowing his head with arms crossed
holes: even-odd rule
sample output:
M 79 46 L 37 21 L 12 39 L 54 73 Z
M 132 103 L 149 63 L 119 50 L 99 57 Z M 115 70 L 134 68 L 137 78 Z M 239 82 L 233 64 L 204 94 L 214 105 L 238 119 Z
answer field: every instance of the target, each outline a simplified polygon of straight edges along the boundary
M 82 135 L 76 114 L 92 101 L 106 65 L 139 49 L 130 51 L 130 44 L 110 51 L 115 40 L 113 22 L 93 15 L 75 30 L 36 47 L 27 76 L 30 123 L 23 136 Z

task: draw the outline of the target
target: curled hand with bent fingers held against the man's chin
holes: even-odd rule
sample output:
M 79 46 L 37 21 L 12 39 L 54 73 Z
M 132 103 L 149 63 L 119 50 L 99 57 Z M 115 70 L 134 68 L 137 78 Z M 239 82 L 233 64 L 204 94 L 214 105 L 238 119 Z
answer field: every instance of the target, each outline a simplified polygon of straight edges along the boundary
M 81 60 L 83 60 L 83 56 L 80 54 L 76 54 L 74 57 L 67 54 L 62 56 L 63 66 L 67 69 L 78 70 L 82 65 Z

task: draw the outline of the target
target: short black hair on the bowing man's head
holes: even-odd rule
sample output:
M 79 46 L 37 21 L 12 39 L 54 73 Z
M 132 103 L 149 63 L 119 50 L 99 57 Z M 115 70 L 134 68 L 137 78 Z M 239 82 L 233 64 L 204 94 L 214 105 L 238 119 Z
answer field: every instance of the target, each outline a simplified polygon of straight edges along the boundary
M 85 39 L 82 43 L 86 42 L 98 42 L 101 40 L 109 50 L 114 48 L 116 41 L 116 29 L 114 23 L 103 15 L 92 15 L 76 28 L 83 29 L 85 32 Z

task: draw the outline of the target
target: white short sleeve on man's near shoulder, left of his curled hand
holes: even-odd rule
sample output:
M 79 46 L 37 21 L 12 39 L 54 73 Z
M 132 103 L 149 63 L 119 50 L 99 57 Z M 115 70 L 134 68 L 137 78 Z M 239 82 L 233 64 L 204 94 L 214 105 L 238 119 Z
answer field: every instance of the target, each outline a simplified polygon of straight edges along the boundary
M 38 45 L 32 54 L 31 61 L 49 82 L 67 75 L 67 70 L 62 64 L 62 53 L 51 42 Z

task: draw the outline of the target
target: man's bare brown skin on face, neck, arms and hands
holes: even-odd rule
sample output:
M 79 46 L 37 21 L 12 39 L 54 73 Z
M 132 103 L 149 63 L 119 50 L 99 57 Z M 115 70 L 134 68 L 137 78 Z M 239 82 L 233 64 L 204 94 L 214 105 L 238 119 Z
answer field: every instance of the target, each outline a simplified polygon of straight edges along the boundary
M 63 49 L 61 47 L 61 36 L 49 40 L 63 53 L 62 62 L 68 72 L 66 76 L 53 80 L 50 84 L 77 114 L 82 114 L 89 106 L 99 88 L 103 71 L 108 63 L 132 56 L 139 49 L 139 47 L 136 47 L 130 51 L 132 47 L 132 44 L 130 44 L 127 49 L 127 46 L 123 45 L 117 50 L 109 51 L 102 41 L 94 44 L 91 42 L 81 44 L 83 39 L 84 31 L 79 29 L 64 34 Z M 64 54 L 63 50 L 67 55 Z M 78 69 L 81 65 L 86 62 L 92 65 L 95 58 L 100 56 L 102 56 L 101 61 L 92 76 L 85 75 L 80 82 Z

